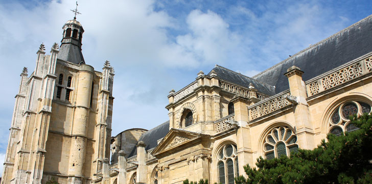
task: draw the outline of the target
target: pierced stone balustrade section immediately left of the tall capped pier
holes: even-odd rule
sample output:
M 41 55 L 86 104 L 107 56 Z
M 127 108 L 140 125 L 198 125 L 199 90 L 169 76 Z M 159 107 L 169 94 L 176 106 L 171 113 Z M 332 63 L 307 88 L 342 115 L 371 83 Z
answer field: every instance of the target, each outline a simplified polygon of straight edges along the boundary
M 254 120 L 268 113 L 289 106 L 291 103 L 287 99 L 288 96 L 290 96 L 289 92 L 285 94 L 279 94 L 276 97 L 267 99 L 267 101 L 263 101 L 262 103 L 258 103 L 257 105 L 249 107 L 249 119 Z

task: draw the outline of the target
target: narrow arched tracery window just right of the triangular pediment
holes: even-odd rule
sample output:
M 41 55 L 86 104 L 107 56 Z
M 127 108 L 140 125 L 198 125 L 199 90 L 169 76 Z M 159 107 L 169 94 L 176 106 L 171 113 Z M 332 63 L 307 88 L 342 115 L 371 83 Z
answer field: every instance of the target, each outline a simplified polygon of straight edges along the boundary
M 234 184 L 234 177 L 239 175 L 238 154 L 235 145 L 227 144 L 218 154 L 218 180 L 222 184 Z

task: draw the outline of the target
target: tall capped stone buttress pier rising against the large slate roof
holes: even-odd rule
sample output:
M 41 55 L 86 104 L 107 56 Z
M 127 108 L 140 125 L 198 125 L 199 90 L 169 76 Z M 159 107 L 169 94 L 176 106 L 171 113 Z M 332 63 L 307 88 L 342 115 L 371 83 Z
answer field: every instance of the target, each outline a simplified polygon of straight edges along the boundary
M 297 66 L 288 68 L 286 75 L 288 77 L 291 96 L 295 97 L 296 102 L 292 102 L 294 119 L 296 123 L 297 144 L 302 149 L 313 149 L 314 129 L 311 124 L 309 106 L 306 101 L 306 84 L 302 80 L 303 71 Z

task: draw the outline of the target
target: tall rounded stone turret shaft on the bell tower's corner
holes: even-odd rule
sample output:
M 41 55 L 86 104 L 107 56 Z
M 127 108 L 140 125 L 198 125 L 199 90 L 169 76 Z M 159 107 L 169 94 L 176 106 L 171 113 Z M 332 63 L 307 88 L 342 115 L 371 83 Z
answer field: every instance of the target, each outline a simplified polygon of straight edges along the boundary
M 71 183 L 83 182 L 83 164 L 85 161 L 93 74 L 94 68 L 92 66 L 80 65 L 76 92 L 76 110 L 73 120 L 73 136 L 68 163 L 68 180 Z

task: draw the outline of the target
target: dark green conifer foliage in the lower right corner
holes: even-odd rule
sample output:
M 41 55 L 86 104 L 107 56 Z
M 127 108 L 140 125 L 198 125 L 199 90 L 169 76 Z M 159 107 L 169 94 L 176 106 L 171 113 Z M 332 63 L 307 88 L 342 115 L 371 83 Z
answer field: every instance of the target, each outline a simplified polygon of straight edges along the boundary
M 314 150 L 300 149 L 291 157 L 257 159 L 257 168 L 244 167 L 243 183 L 369 183 L 372 181 L 372 115 L 351 116 L 359 130 L 327 135 Z

